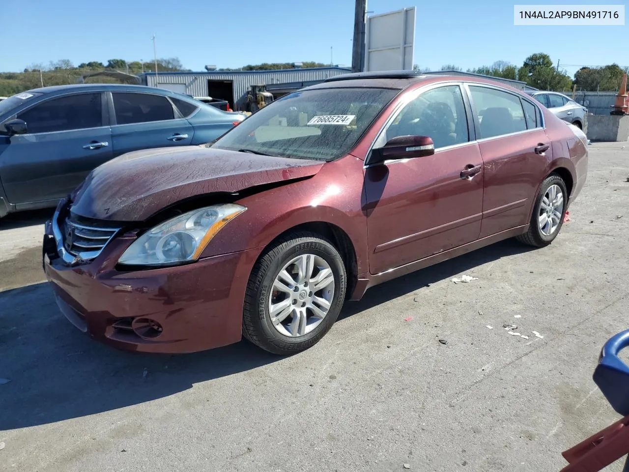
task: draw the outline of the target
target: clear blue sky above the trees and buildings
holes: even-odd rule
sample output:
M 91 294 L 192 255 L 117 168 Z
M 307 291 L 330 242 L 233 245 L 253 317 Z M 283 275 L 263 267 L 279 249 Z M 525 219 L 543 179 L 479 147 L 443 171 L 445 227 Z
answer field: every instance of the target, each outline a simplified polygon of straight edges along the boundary
M 369 0 L 368 9 L 377 14 L 417 6 L 415 63 L 432 70 L 444 64 L 465 70 L 495 60 L 519 66 L 534 52 L 570 65 L 571 74 L 578 69 L 573 65 L 629 65 L 629 26 L 514 26 L 514 3 L 528 2 Z M 158 57 L 179 57 L 192 70 L 203 70 L 205 64 L 329 63 L 330 47 L 335 64 L 351 64 L 353 0 L 108 0 L 99 8 L 92 5 L 90 0 L 31 0 L 28 6 L 3 1 L 0 71 L 58 59 L 75 65 L 152 60 L 153 33 Z

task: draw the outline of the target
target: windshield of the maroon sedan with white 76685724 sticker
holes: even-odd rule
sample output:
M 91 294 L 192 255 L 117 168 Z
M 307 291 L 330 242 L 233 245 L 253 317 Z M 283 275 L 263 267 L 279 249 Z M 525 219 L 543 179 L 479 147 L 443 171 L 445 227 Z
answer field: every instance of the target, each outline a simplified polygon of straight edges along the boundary
M 275 101 L 221 137 L 213 148 L 333 160 L 347 154 L 399 91 L 320 89 Z

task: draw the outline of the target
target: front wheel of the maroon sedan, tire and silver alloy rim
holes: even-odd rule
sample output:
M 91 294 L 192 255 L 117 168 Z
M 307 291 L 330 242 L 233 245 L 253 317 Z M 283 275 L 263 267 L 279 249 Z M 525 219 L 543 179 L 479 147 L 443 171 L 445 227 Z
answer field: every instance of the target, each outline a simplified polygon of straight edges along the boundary
M 292 233 L 267 249 L 245 292 L 242 332 L 273 354 L 315 345 L 338 318 L 345 300 L 343 258 L 330 241 Z

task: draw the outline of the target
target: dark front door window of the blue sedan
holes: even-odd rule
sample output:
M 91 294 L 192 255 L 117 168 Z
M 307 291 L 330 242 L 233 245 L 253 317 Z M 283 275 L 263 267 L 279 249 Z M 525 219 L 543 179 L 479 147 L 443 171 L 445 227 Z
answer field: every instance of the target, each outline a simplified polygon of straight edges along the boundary
M 100 93 L 82 93 L 53 98 L 19 113 L 28 133 L 50 133 L 103 126 Z

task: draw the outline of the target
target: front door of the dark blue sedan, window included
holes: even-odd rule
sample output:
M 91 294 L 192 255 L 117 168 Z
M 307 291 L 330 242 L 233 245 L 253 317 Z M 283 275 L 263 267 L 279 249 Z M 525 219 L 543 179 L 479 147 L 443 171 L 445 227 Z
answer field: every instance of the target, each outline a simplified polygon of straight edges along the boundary
M 14 205 L 63 198 L 113 157 L 101 92 L 43 99 L 16 117 L 26 121 L 27 133 L 0 146 L 0 179 Z

